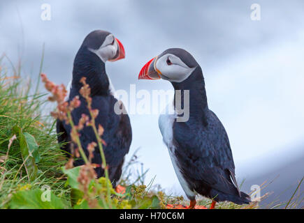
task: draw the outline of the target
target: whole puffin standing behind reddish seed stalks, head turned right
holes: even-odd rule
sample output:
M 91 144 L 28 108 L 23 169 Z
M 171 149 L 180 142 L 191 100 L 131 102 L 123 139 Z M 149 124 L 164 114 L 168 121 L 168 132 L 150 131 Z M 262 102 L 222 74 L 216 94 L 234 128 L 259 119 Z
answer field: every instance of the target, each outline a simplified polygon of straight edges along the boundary
M 68 94 L 66 100 L 69 102 L 75 96 L 80 99 L 80 107 L 71 112 L 73 122 L 78 125 L 82 114 L 89 116 L 87 102 L 80 95 L 82 84 L 80 79 L 86 77 L 86 82 L 91 89 L 92 109 L 98 109 L 96 116 L 96 128 L 103 127 L 102 139 L 104 141 L 103 151 L 108 165 L 108 174 L 113 187 L 117 186 L 118 180 L 122 175 L 122 165 L 124 156 L 129 152 L 131 145 L 132 132 L 129 116 L 124 109 L 121 101 L 115 98 L 113 85 L 110 77 L 106 73 L 106 61 L 118 61 L 124 59 L 124 47 L 120 40 L 115 38 L 113 33 L 102 30 L 95 30 L 89 33 L 83 40 L 73 62 L 73 77 L 68 84 Z M 115 105 L 120 109 L 115 110 Z M 123 112 L 119 112 L 123 111 Z M 118 112 L 117 112 L 118 111 Z M 80 130 L 80 142 L 87 157 L 89 151 L 87 146 L 97 139 L 94 130 L 90 126 L 85 126 Z M 76 148 L 71 142 L 71 125 L 65 121 L 57 119 L 57 135 L 59 144 L 63 151 L 71 155 L 72 147 Z M 92 163 L 95 165 L 96 176 L 104 176 L 101 167 L 101 154 L 96 147 L 93 153 Z M 78 159 L 73 162 L 74 166 L 85 164 L 84 160 Z

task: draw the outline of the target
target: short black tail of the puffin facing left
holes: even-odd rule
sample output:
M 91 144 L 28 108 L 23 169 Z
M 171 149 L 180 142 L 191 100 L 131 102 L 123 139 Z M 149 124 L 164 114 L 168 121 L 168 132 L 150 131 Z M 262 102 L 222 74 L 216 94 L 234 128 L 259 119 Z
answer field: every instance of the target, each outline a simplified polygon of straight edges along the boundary
M 240 192 L 239 194 L 224 194 L 217 190 L 211 191 L 211 196 L 214 197 L 213 199 L 217 202 L 219 201 L 231 201 L 236 204 L 244 204 L 251 202 L 250 196 L 245 194 L 244 192 Z

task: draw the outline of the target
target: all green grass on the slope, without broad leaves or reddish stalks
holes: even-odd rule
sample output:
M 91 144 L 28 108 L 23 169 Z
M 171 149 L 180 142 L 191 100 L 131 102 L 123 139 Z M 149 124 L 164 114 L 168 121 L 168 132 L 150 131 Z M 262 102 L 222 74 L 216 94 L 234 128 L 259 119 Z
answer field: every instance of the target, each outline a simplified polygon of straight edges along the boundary
M 75 191 L 77 185 L 67 183 L 67 178 L 71 178 L 71 175 L 66 176 L 62 171 L 67 158 L 57 143 L 54 119 L 48 114 L 42 115 L 51 104 L 45 99 L 45 94 L 38 93 L 39 80 L 36 86 L 32 86 L 31 81 L 25 82 L 20 77 L 20 66 L 15 68 L 10 64 L 8 68 L 3 59 L 5 58 L 0 59 L 0 208 L 89 208 L 87 203 L 73 207 L 69 204 L 71 192 Z M 16 128 L 36 140 L 40 158 L 35 164 L 22 158 L 24 146 L 20 143 L 21 134 L 15 131 Z M 13 138 L 14 135 L 17 139 Z M 35 155 L 34 157 L 36 158 Z M 130 170 L 138 162 L 136 154 L 126 162 L 120 185 L 126 187 L 127 193 L 125 196 L 113 193 L 115 208 L 165 208 L 167 203 L 189 205 L 189 201 L 183 197 L 171 196 L 165 194 L 160 187 L 152 187 L 154 179 L 147 186 L 143 185 L 147 170 L 142 165 L 135 173 Z M 29 174 L 31 165 L 38 169 L 34 178 Z M 77 181 L 77 178 L 74 180 Z M 99 183 L 95 186 L 102 191 L 102 180 Z M 52 198 L 57 203 L 48 206 L 38 201 L 45 185 L 51 188 Z M 300 185 L 301 183 L 299 187 Z M 288 203 L 281 203 L 278 207 L 297 208 L 298 203 L 301 203 L 295 196 L 297 190 Z M 27 201 L 28 198 L 32 199 L 32 203 Z M 198 199 L 198 205 L 209 207 L 210 203 L 210 199 Z M 258 208 L 258 203 L 239 206 L 231 202 L 220 202 L 216 208 Z

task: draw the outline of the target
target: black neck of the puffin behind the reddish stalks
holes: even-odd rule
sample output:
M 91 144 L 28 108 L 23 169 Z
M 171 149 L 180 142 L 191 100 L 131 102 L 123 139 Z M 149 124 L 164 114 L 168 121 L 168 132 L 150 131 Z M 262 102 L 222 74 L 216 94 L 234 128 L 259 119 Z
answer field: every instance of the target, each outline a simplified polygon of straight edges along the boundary
M 105 63 L 101 61 L 99 56 L 90 52 L 87 47 L 80 47 L 75 56 L 72 81 L 73 91 L 81 89 L 80 79 L 82 77 L 87 77 L 86 82 L 91 88 L 91 96 L 108 94 L 109 80 Z

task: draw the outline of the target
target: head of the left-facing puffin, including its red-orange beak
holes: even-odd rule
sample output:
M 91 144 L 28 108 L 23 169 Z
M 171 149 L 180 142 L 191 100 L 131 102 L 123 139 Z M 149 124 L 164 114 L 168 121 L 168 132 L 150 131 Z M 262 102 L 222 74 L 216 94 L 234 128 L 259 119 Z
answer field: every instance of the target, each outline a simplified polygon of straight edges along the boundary
M 194 57 L 184 49 L 167 49 L 143 66 L 138 79 L 166 79 L 183 82 L 198 66 Z

